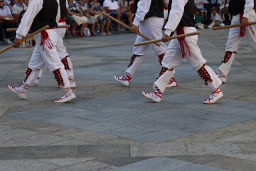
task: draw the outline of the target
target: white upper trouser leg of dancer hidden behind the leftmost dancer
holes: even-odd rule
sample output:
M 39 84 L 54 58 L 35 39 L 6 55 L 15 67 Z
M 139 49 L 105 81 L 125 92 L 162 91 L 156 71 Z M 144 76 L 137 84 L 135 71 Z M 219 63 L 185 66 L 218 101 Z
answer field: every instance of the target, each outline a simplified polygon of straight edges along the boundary
M 64 26 L 64 25 L 66 25 L 65 22 L 58 23 L 58 26 Z M 56 48 L 60 55 L 60 59 L 63 59 L 66 56 L 68 56 L 67 49 L 65 48 L 64 42 L 63 42 L 63 37 L 65 36 L 66 28 L 58 28 L 58 29 L 56 29 L 56 31 L 58 33 L 58 40 L 57 40 Z

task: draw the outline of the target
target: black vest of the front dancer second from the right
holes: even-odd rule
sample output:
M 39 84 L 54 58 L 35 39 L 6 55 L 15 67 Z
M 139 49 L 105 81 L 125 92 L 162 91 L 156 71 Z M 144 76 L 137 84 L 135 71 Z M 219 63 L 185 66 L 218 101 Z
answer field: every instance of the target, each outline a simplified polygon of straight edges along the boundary
M 171 4 L 172 4 L 172 0 L 169 1 L 169 6 L 168 6 L 169 13 L 171 11 Z M 195 16 L 194 0 L 188 0 L 188 3 L 185 5 L 181 22 L 178 24 L 178 26 L 191 26 L 191 27 L 195 26 L 196 23 L 195 23 L 194 16 Z

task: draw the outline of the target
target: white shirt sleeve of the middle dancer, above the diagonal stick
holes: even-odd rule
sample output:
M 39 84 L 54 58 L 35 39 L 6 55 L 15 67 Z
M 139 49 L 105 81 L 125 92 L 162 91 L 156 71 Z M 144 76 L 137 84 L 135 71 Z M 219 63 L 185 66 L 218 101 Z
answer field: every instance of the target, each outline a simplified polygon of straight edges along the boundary
M 139 26 L 139 23 L 144 21 L 146 14 L 149 12 L 151 0 L 140 0 L 135 14 L 133 25 Z

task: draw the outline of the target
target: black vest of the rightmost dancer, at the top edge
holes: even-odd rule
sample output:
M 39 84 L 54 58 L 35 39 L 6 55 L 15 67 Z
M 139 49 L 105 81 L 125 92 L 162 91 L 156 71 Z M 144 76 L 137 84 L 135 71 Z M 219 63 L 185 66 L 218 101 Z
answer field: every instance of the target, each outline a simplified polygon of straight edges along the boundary
M 230 15 L 236 16 L 245 10 L 245 0 L 230 0 L 228 11 Z

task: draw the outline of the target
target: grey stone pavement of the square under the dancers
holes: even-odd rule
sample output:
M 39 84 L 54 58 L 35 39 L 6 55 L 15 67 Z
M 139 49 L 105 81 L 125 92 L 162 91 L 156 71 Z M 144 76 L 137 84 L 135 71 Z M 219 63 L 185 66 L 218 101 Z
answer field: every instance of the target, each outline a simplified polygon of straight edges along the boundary
M 198 45 L 208 65 L 218 68 L 228 30 L 203 30 Z M 33 48 L 0 55 L 1 171 L 255 171 L 256 61 L 243 40 L 225 98 L 203 105 L 209 90 L 186 60 L 176 68 L 178 88 L 161 103 L 142 97 L 159 73 L 149 51 L 129 88 L 114 81 L 132 55 L 135 35 L 65 39 L 75 68 L 78 96 L 65 104 L 47 72 L 26 100 L 11 93 L 18 86 Z M 0 46 L 4 48 L 4 46 Z

